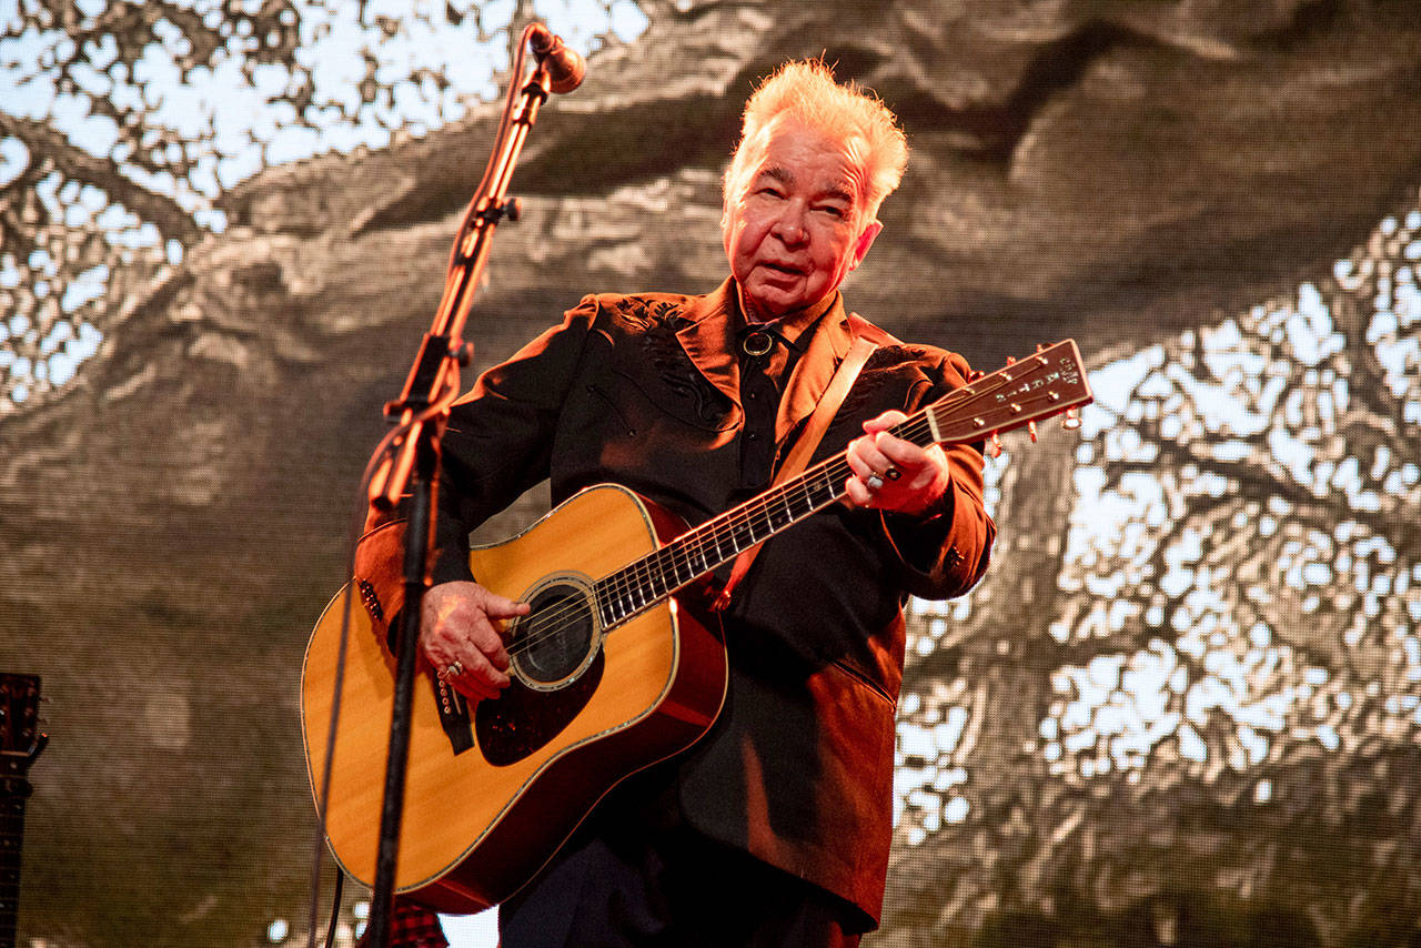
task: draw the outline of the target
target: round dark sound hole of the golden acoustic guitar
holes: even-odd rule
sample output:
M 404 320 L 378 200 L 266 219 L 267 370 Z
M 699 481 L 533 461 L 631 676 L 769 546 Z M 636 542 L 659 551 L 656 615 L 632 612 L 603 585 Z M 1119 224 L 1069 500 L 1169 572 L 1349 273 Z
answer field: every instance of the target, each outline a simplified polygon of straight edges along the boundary
M 530 686 L 556 688 L 591 662 L 597 621 L 587 593 L 568 583 L 541 590 L 531 605 L 514 628 L 513 665 Z

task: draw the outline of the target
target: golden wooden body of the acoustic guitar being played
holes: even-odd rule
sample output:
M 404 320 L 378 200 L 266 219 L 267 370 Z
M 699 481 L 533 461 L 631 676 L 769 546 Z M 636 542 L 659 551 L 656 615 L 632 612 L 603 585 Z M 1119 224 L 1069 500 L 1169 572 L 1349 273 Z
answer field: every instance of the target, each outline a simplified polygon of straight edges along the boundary
M 360 594 L 350 610 L 327 807 L 331 851 L 365 884 L 375 877 L 395 689 L 387 637 L 402 600 L 394 554 L 399 527 L 372 532 L 362 540 L 364 556 L 357 556 Z M 635 493 L 600 485 L 469 559 L 485 587 L 533 601 L 534 615 L 540 601 L 544 614 L 560 615 L 567 611 L 561 603 L 578 603 L 584 580 L 615 573 L 681 530 L 675 517 Z M 323 613 L 301 674 L 303 736 L 317 802 L 344 601 L 341 593 Z M 398 891 L 449 912 L 503 901 L 615 783 L 689 746 L 715 721 L 726 689 L 725 645 L 676 598 L 610 631 L 594 613 L 583 618 L 570 625 L 567 641 L 558 641 L 556 628 L 510 627 L 510 647 L 527 645 L 514 659 L 523 674 L 497 701 L 472 709 L 421 662 Z

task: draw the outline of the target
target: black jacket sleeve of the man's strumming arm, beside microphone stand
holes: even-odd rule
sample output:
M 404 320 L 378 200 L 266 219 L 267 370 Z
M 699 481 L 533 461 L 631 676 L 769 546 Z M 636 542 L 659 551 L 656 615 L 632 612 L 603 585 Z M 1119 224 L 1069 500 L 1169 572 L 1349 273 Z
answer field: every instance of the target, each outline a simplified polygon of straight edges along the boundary
M 597 316 L 587 296 L 449 412 L 435 520 L 435 583 L 472 578 L 469 533 L 549 475 L 553 435 Z

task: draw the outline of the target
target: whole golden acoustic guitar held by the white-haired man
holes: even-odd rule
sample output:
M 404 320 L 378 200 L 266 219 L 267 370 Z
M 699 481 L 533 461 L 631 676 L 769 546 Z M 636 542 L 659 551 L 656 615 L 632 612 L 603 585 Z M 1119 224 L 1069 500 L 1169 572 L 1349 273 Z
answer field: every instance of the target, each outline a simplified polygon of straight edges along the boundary
M 918 445 L 975 443 L 1090 401 L 1080 352 L 1066 340 L 952 391 L 892 433 Z M 840 452 L 689 530 L 631 490 L 598 485 L 519 536 L 472 550 L 479 583 L 531 613 L 506 625 L 513 684 L 496 701 L 470 706 L 431 669 L 419 672 L 395 888 L 439 911 L 495 905 L 615 783 L 705 733 L 725 698 L 725 645 L 681 597 L 742 550 L 837 502 L 850 473 Z M 301 674 L 320 807 L 345 613 L 325 830 L 335 860 L 365 884 L 375 876 L 394 702 L 401 529 L 391 523 L 361 540 L 351 596 L 327 605 Z

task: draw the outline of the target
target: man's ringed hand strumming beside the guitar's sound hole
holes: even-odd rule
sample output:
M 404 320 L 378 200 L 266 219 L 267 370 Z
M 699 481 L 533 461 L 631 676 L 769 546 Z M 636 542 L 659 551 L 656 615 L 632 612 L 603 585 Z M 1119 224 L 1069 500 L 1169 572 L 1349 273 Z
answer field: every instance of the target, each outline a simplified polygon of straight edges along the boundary
M 497 698 L 509 684 L 503 620 L 527 615 L 529 604 L 477 583 L 441 583 L 425 593 L 419 648 L 436 675 L 469 698 Z M 458 662 L 458 674 L 449 667 Z

